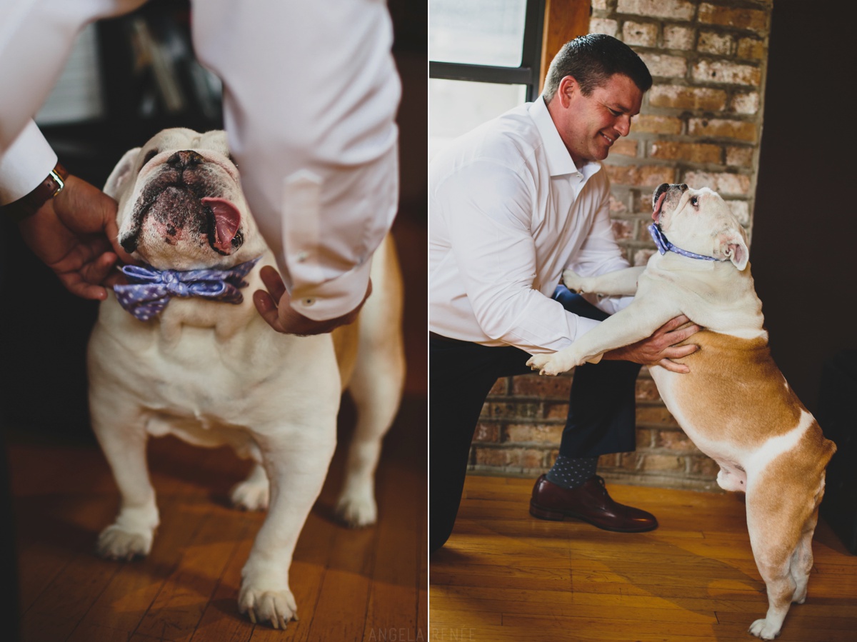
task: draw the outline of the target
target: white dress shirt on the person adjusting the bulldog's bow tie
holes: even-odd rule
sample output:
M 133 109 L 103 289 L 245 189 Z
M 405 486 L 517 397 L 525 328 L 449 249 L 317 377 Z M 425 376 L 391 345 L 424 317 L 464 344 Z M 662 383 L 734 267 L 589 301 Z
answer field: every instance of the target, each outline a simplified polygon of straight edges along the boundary
M 0 204 L 57 162 L 28 123 L 77 33 L 142 3 L 0 0 Z M 344 315 L 363 300 L 399 201 L 387 3 L 198 0 L 192 10 L 195 53 L 224 83 L 231 152 L 292 307 L 316 321 Z

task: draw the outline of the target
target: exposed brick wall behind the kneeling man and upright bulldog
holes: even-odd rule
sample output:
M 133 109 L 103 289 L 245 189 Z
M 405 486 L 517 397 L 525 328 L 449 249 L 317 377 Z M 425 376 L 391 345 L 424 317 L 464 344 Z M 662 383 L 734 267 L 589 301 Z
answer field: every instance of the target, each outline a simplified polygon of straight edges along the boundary
M 631 45 L 655 80 L 605 162 L 614 233 L 632 265 L 655 251 L 646 226 L 661 183 L 708 186 L 752 232 L 772 0 L 593 0 L 591 33 Z M 536 477 L 553 464 L 573 373 L 500 379 L 482 410 L 470 471 Z M 716 489 L 717 465 L 679 429 L 643 369 L 637 452 L 602 457 L 608 480 Z

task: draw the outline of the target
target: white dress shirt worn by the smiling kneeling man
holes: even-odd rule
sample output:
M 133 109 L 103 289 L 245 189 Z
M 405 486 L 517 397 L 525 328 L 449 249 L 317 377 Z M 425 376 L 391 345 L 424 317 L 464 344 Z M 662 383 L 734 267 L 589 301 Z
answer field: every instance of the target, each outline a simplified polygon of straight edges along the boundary
M 551 296 L 566 267 L 628 267 L 609 194 L 600 164 L 574 165 L 541 97 L 452 141 L 429 169 L 429 329 L 536 353 L 595 327 Z M 598 305 L 612 314 L 630 301 Z

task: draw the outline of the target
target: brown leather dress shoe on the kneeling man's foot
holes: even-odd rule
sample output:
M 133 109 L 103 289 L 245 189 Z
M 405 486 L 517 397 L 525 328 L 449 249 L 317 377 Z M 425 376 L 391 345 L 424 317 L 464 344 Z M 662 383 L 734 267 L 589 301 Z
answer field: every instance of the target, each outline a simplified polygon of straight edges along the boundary
M 653 514 L 613 501 L 598 475 L 576 489 L 564 489 L 542 475 L 533 486 L 530 515 L 556 521 L 574 517 L 605 531 L 638 533 L 657 528 Z

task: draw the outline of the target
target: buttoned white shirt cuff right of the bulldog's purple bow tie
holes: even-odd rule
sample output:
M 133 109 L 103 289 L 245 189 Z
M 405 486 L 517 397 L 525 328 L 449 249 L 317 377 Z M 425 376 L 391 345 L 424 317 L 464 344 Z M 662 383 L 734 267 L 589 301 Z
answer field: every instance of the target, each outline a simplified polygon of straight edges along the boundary
M 327 321 L 357 308 L 369 287 L 372 260 L 336 279 L 318 285 L 301 285 L 291 291 L 291 308 L 313 321 Z

